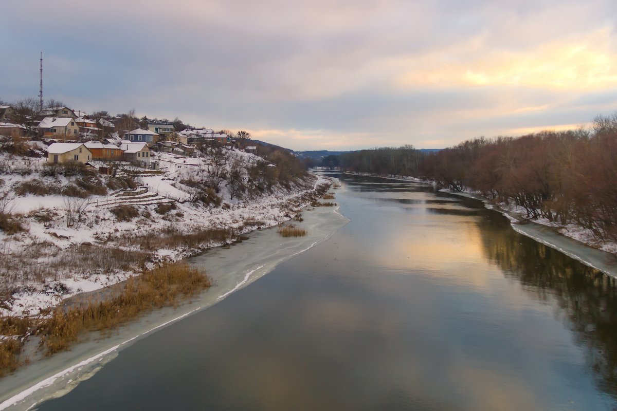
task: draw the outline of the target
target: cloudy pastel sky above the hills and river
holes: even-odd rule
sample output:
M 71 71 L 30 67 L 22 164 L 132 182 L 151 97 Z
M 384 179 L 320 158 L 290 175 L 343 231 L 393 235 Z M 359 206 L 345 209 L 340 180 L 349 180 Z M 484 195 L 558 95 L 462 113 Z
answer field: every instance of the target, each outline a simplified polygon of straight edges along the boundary
M 615 0 L 2 0 L 0 99 L 178 117 L 294 150 L 588 126 Z

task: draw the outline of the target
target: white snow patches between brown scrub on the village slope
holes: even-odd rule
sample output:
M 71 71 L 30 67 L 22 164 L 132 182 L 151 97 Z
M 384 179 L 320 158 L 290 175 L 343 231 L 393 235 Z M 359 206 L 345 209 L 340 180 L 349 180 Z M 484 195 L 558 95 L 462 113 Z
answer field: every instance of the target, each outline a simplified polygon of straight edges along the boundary
M 227 160 L 242 158 L 246 164 L 262 161 L 259 157 L 238 150 L 224 150 Z M 60 253 L 71 252 L 80 245 L 99 245 L 110 238 L 123 236 L 156 236 L 157 232 L 175 230 L 189 234 L 206 229 L 236 229 L 238 234 L 254 230 L 256 227 L 270 227 L 286 221 L 295 211 L 307 206 L 310 200 L 305 194 L 315 190 L 322 184 L 329 184 L 323 176 L 312 177 L 312 187 L 301 189 L 284 189 L 274 185 L 272 192 L 251 198 L 234 198 L 231 200 L 229 190 L 223 181 L 220 195 L 222 206 L 209 206 L 199 202 L 187 201 L 190 187 L 180 184 L 181 179 L 191 175 L 203 176 L 210 171 L 209 158 L 187 158 L 168 153 L 159 155 L 162 174 L 152 174 L 137 177 L 139 184 L 147 187 L 145 195 L 158 194 L 162 201 L 176 201 L 176 209 L 167 214 L 158 214 L 156 208 L 159 200 L 150 204 L 138 205 L 141 215 L 133 221 L 117 221 L 109 211 L 109 206 L 102 206 L 109 201 L 117 201 L 114 193 L 107 196 L 91 196 L 85 200 L 85 217 L 83 222 L 67 227 L 67 198 L 59 195 L 17 196 L 11 192 L 16 184 L 33 178 L 41 179 L 48 184 L 65 184 L 66 177 L 41 177 L 37 174 L 0 173 L 4 184 L 0 185 L 0 195 L 10 194 L 10 207 L 14 213 L 22 214 L 20 222 L 27 229 L 14 235 L 0 232 L 0 256 L 15 259 L 30 251 L 40 253 L 29 257 L 30 264 L 44 266 L 61 258 Z M 19 160 L 16 160 L 19 161 Z M 142 170 L 143 171 L 143 170 Z M 114 200 L 115 199 L 115 200 Z M 76 200 L 79 201 L 79 200 Z M 147 202 L 147 201 L 146 201 Z M 40 219 L 36 216 L 51 216 Z M 251 224 L 245 222 L 251 221 Z M 146 266 L 153 267 L 160 262 L 173 262 L 200 253 L 205 248 L 223 245 L 223 242 L 202 244 L 197 249 L 178 245 L 175 248 L 157 250 L 151 254 Z M 118 248 L 118 246 L 116 246 Z M 122 247 L 120 247 L 122 248 Z M 126 253 L 138 251 L 125 247 Z M 31 251 L 36 250 L 36 251 Z M 41 251 L 45 250 L 45 251 Z M 21 257 L 19 257 L 21 258 Z M 36 315 L 41 310 L 54 307 L 62 300 L 77 295 L 83 291 L 93 291 L 121 282 L 141 272 L 141 267 L 131 269 L 113 269 L 107 272 L 92 272 L 88 270 L 88 262 L 81 265 L 62 267 L 67 272 L 56 272 L 52 277 L 39 280 L 25 280 L 10 284 L 12 290 L 9 301 L 4 301 L 5 307 L 0 307 L 0 315 Z

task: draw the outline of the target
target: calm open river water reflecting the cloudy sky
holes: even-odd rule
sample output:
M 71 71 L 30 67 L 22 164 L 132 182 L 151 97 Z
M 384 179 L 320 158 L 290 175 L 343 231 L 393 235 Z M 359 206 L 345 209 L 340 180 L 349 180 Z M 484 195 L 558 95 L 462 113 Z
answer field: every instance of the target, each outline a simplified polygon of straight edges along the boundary
M 617 407 L 615 280 L 479 201 L 339 177 L 349 224 L 38 409 Z

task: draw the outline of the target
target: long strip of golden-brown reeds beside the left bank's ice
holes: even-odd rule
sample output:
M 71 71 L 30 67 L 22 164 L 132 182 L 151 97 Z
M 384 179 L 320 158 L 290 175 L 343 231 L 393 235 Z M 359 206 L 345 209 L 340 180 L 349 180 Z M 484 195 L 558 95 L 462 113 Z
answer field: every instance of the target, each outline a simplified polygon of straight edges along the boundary
M 130 279 L 113 298 L 77 307 L 57 307 L 38 328 L 46 355 L 68 349 L 85 332 L 109 330 L 152 309 L 210 287 L 210 279 L 188 264 L 173 264 Z

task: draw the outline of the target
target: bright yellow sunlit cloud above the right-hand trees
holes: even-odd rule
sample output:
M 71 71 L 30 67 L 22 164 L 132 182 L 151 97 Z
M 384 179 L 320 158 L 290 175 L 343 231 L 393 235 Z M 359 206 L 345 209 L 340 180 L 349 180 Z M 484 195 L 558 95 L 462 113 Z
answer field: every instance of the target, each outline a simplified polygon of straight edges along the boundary
M 611 46 L 609 28 L 528 50 L 479 54 L 482 47 L 478 43 L 482 41 L 482 37 L 476 38 L 445 54 L 410 60 L 414 69 L 398 76 L 395 85 L 525 86 L 574 91 L 617 86 L 617 55 Z

